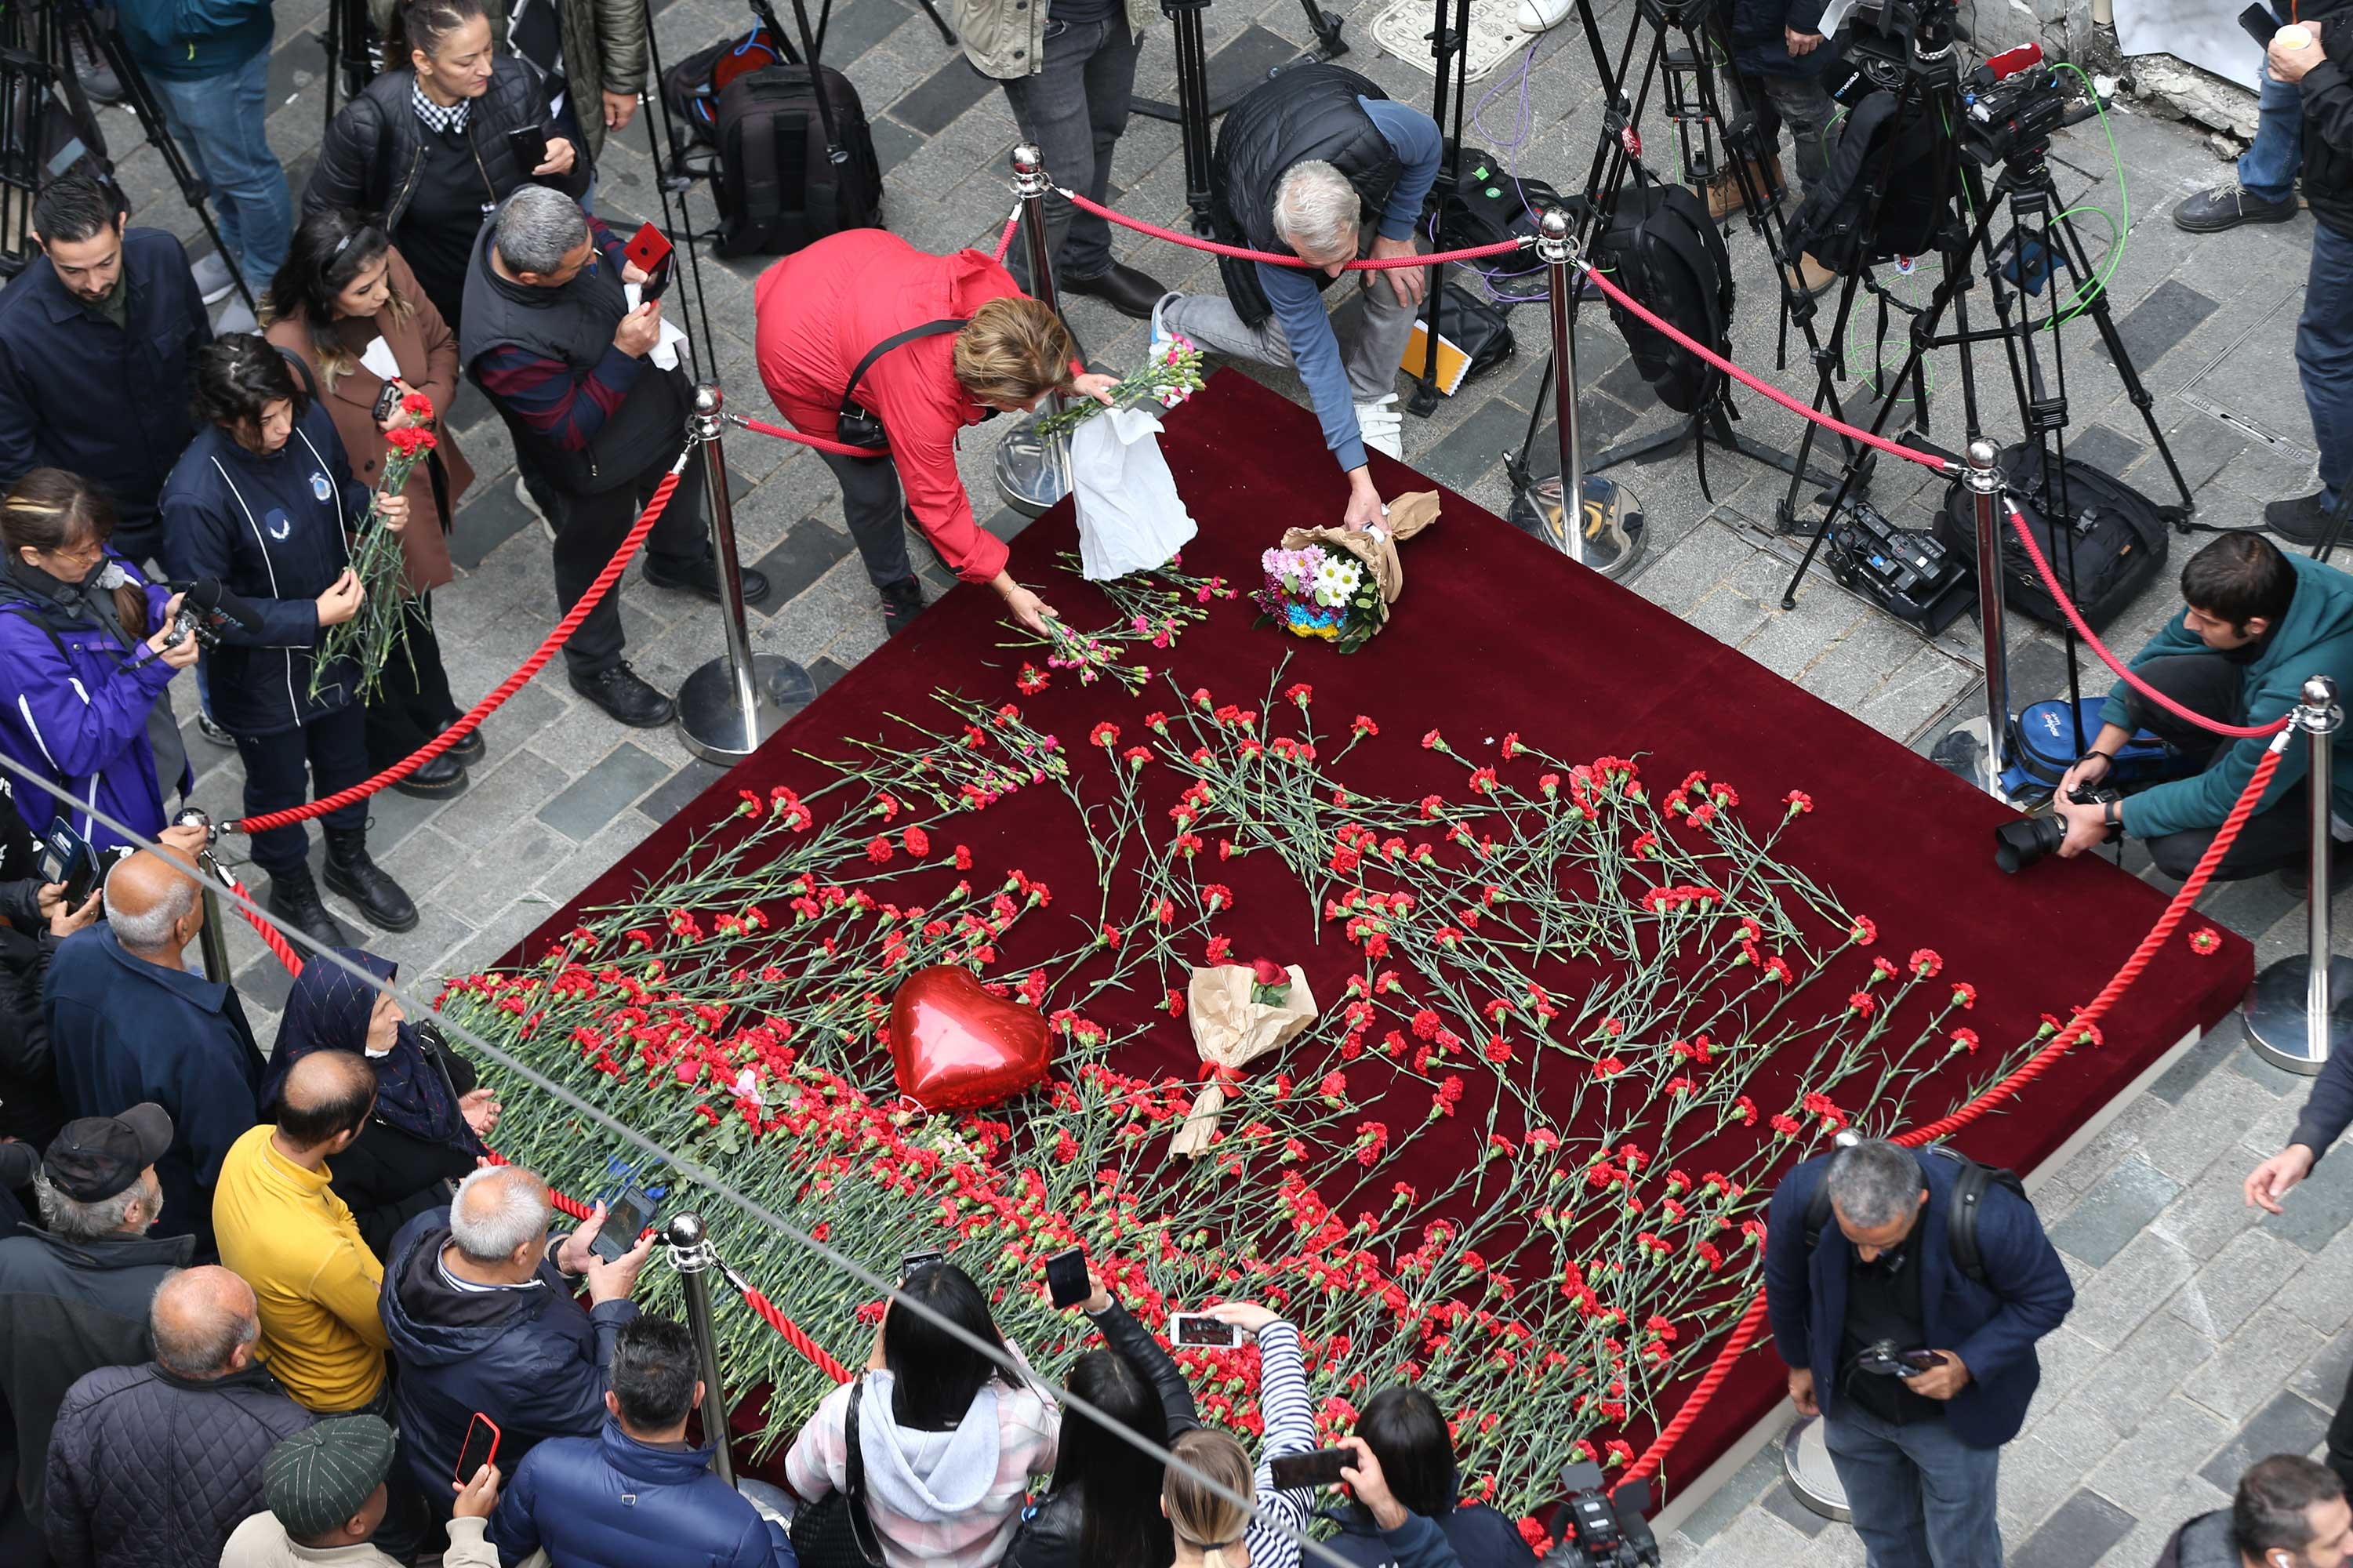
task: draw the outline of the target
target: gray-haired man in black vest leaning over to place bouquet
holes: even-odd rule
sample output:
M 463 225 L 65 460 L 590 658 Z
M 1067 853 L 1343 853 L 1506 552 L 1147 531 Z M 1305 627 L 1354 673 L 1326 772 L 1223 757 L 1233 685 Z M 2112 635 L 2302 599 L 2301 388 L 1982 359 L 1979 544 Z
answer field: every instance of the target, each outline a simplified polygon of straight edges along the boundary
M 1435 120 L 1358 73 L 1285 71 L 1226 111 L 1209 162 L 1212 217 L 1219 240 L 1306 266 L 1221 257 L 1226 299 L 1169 294 L 1153 311 L 1155 339 L 1181 334 L 1299 372 L 1325 447 L 1348 476 L 1348 527 L 1381 520 L 1365 447 L 1405 457 L 1395 384 L 1428 278 L 1412 266 L 1355 273 L 1362 306 L 1346 346 L 1325 315 L 1322 290 L 1358 257 L 1414 254 L 1440 153 Z

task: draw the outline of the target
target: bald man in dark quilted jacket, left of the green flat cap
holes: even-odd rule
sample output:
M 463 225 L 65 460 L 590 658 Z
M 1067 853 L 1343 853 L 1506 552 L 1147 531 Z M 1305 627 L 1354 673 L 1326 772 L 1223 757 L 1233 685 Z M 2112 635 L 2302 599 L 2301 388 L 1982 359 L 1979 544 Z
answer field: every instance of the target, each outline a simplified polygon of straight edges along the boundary
M 254 1361 L 252 1288 L 221 1267 L 155 1293 L 155 1358 L 66 1394 L 49 1441 L 42 1530 L 56 1568 L 216 1568 L 264 1509 L 261 1462 L 311 1424 Z

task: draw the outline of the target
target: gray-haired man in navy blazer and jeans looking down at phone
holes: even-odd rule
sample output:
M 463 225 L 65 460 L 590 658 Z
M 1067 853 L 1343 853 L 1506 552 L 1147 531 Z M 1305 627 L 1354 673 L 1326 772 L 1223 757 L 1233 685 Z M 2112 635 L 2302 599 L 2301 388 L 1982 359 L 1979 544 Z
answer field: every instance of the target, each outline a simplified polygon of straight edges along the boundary
M 1819 1415 L 1868 1568 L 2002 1568 L 2002 1443 L 2075 1288 L 2033 1205 L 1974 1161 L 1882 1140 L 1791 1170 L 1765 1215 L 1765 1311 Z M 1934 1552 L 1929 1549 L 1934 1542 Z

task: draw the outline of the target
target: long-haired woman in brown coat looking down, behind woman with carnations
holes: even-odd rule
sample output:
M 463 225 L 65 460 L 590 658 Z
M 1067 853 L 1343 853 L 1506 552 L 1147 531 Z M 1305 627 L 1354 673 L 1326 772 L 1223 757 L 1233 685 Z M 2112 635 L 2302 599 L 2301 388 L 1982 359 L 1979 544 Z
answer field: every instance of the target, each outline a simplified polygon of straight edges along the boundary
M 339 207 L 311 212 L 294 231 L 287 261 L 271 283 L 275 320 L 268 339 L 301 360 L 308 388 L 334 419 L 344 452 L 362 485 L 374 485 L 395 454 L 400 431 L 440 426 L 433 450 L 409 471 L 402 494 L 412 525 L 400 532 L 407 591 L 416 596 L 407 645 L 386 662 L 367 699 L 367 765 L 391 768 L 456 723 L 459 706 L 433 636 L 433 589 L 447 584 L 449 525 L 473 485 L 473 466 L 449 436 L 456 400 L 456 332 L 416 285 L 391 235 L 372 219 Z M 386 381 L 381 374 L 391 370 Z M 386 386 L 400 400 L 376 419 Z M 409 796 L 454 796 L 466 768 L 482 756 L 468 735 L 393 789 Z

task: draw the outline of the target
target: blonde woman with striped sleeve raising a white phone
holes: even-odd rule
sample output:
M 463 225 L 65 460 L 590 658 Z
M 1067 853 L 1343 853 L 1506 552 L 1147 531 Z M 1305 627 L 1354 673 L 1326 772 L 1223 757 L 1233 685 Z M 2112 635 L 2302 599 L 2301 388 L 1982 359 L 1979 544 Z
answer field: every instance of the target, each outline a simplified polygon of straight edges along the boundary
M 1315 1490 L 1275 1488 L 1273 1462 L 1315 1448 L 1315 1410 L 1308 1403 L 1308 1375 L 1299 1354 L 1299 1330 L 1266 1307 L 1226 1302 L 1209 1316 L 1233 1323 L 1259 1342 L 1259 1422 L 1266 1448 L 1259 1467 L 1224 1431 L 1207 1427 L 1186 1431 L 1169 1453 L 1167 1481 L 1160 1483 L 1160 1511 L 1176 1535 L 1172 1568 L 1301 1568 L 1299 1540 L 1315 1509 Z M 1355 1464 L 1341 1469 L 1341 1481 L 1372 1514 L 1372 1526 L 1388 1547 L 1393 1568 L 1461 1568 L 1438 1521 L 1424 1519 L 1398 1502 L 1365 1439 L 1348 1436 L 1341 1448 L 1355 1450 Z M 1240 1497 L 1252 1497 L 1245 1509 Z

